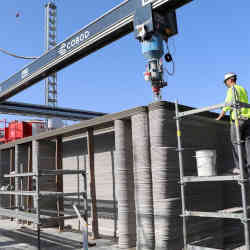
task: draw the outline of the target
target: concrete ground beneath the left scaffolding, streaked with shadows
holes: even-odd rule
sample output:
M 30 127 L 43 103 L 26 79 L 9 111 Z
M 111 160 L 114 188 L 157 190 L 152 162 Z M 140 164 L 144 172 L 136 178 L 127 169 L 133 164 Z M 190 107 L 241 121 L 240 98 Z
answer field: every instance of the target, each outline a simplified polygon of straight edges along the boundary
M 93 241 L 91 241 L 93 242 Z M 117 242 L 112 238 L 101 238 L 95 241 L 92 250 L 118 250 Z M 35 250 L 37 249 L 37 232 L 32 227 L 21 227 L 9 219 L 0 222 L 0 249 L 1 250 Z M 82 234 L 72 230 L 59 232 L 58 228 L 42 228 L 42 250 L 81 250 Z M 132 249 L 131 249 L 132 250 Z

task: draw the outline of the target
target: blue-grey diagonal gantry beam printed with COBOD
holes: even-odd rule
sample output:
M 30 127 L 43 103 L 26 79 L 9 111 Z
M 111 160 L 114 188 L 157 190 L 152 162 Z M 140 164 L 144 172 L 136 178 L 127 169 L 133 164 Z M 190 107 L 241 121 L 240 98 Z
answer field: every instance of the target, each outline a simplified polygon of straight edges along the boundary
M 191 1 L 151 0 L 147 2 L 152 3 L 153 10 L 162 12 L 176 9 Z M 135 11 L 142 5 L 142 0 L 126 0 L 44 53 L 0 84 L 0 101 L 14 96 L 50 74 L 132 32 Z

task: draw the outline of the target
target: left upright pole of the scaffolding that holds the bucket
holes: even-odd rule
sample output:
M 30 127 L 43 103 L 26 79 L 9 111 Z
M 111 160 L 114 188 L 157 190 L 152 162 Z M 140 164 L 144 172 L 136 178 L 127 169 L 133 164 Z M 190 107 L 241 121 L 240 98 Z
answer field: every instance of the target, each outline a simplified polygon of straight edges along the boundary
M 182 143 L 181 143 L 181 126 L 179 116 L 179 107 L 178 101 L 175 103 L 176 110 L 176 128 L 177 128 L 177 151 L 179 156 L 179 167 L 180 167 L 180 184 L 181 184 L 181 202 L 182 202 L 182 226 L 183 226 L 183 241 L 184 241 L 184 250 L 187 250 L 187 221 L 186 221 L 186 203 L 185 203 L 185 186 L 183 183 L 184 177 L 184 166 L 183 166 L 183 157 L 182 157 Z

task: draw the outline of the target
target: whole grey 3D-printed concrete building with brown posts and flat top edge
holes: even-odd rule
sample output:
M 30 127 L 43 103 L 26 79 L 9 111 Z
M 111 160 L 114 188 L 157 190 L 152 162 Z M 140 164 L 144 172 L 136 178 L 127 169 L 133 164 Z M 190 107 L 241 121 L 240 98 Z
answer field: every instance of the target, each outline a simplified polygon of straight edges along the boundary
M 13 185 L 14 177 L 24 176 L 22 190 L 20 181 L 15 181 L 15 191 L 0 192 L 1 214 L 41 226 L 58 223 L 61 229 L 65 225 L 77 229 L 72 203 L 83 207 L 84 185 L 79 170 L 88 169 L 90 228 L 95 237 L 118 237 L 120 249 L 136 244 L 138 249 L 181 249 L 174 117 L 174 104 L 157 102 L 1 145 L 1 185 Z M 207 112 L 182 122 L 183 144 L 189 148 L 184 153 L 186 176 L 197 176 L 193 156 L 201 148 L 217 150 L 219 175 L 232 167 L 228 122 L 214 118 L 215 114 Z M 16 176 L 8 178 L 13 171 Z M 46 171 L 55 171 L 55 177 L 44 177 Z M 63 172 L 56 171 L 75 175 L 62 177 Z M 38 190 L 29 181 L 32 173 L 39 176 L 38 203 L 34 199 Z M 226 178 L 225 182 L 190 183 L 186 189 L 187 210 L 228 215 L 226 220 L 187 220 L 189 241 L 207 249 L 227 249 L 244 241 L 239 218 L 230 219 L 231 214 L 242 212 L 239 185 L 235 176 Z M 34 210 L 37 207 L 39 214 Z

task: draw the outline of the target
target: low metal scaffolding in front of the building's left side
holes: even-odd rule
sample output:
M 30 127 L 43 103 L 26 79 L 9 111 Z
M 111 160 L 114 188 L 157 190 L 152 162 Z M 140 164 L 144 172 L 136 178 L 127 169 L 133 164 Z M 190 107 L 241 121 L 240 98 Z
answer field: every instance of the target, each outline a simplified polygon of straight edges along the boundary
M 10 169 L 11 170 L 11 169 Z M 83 177 L 83 192 L 74 192 L 74 193 L 66 193 L 66 192 L 50 192 L 50 191 L 41 191 L 40 190 L 40 180 L 41 178 L 46 178 L 48 176 L 56 176 L 57 181 L 58 179 L 62 179 L 63 175 L 79 175 L 81 174 Z M 58 223 L 59 229 L 61 229 L 62 223 L 64 223 L 64 220 L 68 219 L 76 219 L 78 218 L 77 215 L 71 215 L 71 216 L 65 216 L 62 214 L 61 211 L 61 204 L 60 202 L 63 197 L 66 196 L 76 196 L 76 195 L 82 195 L 84 199 L 84 211 L 82 212 L 81 216 L 85 216 L 85 218 L 88 218 L 88 209 L 87 209 L 87 179 L 86 179 L 86 170 L 36 170 L 34 172 L 21 172 L 21 173 L 15 173 L 10 172 L 10 174 L 5 174 L 5 178 L 10 178 L 10 183 L 13 185 L 13 179 L 21 179 L 20 183 L 20 190 L 2 190 L 0 191 L 0 195 L 10 195 L 10 208 L 0 208 L 0 215 L 6 216 L 10 218 L 16 218 L 16 220 L 21 221 L 27 221 L 28 224 L 33 223 L 36 225 L 37 230 L 37 249 L 41 249 L 41 242 L 40 242 L 40 229 L 43 226 L 48 226 L 51 223 Z M 23 179 L 28 178 L 28 189 L 30 191 L 24 191 L 23 190 Z M 30 178 L 35 178 L 35 190 L 32 190 L 31 183 L 29 181 Z M 17 183 L 15 184 L 15 187 L 17 187 Z M 31 206 L 28 207 L 27 211 L 24 211 L 22 207 L 20 207 L 20 202 L 17 204 L 18 206 L 13 206 L 13 196 L 16 197 L 28 197 L 28 202 L 30 203 L 30 198 L 32 197 L 35 201 L 35 211 L 31 210 Z M 57 201 L 57 216 L 48 216 L 48 215 L 42 215 L 41 209 L 40 209 L 40 203 L 43 197 L 55 197 Z M 22 202 L 21 202 L 22 204 Z M 23 211 L 22 211 L 23 210 Z

